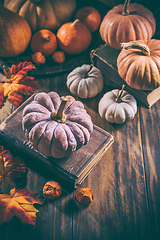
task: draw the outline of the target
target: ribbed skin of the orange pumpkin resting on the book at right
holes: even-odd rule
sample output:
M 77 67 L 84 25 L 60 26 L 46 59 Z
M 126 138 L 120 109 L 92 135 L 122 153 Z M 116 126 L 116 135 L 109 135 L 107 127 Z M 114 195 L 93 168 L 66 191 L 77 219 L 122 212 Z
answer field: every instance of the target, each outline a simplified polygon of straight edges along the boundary
M 140 50 L 122 49 L 117 58 L 117 68 L 129 86 L 152 90 L 160 86 L 160 40 L 151 39 L 145 44 L 150 49 L 150 56 L 145 56 Z

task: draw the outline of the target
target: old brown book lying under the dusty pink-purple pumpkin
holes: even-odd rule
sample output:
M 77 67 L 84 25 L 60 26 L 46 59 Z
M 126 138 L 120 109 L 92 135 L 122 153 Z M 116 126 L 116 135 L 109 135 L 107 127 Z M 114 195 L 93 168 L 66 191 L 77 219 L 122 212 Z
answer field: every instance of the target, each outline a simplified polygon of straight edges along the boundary
M 24 107 L 33 100 L 34 95 L 27 99 L 0 125 L 0 143 L 11 152 L 14 151 L 35 170 L 53 175 L 65 187 L 76 188 L 89 172 L 100 161 L 113 143 L 113 136 L 107 131 L 94 126 L 90 141 L 75 151 L 70 157 L 56 159 L 46 157 L 35 150 L 27 142 L 22 129 L 22 112 Z

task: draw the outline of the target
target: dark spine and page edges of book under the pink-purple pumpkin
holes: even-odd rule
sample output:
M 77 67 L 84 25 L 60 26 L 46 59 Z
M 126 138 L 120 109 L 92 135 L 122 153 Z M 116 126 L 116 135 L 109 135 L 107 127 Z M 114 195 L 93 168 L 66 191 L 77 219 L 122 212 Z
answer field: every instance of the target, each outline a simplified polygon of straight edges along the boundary
M 94 125 L 94 129 L 97 129 L 97 126 Z M 63 179 L 63 181 L 66 181 L 68 184 L 70 184 L 69 186 L 77 188 L 83 182 L 83 180 L 89 175 L 92 169 L 98 164 L 98 162 L 104 156 L 106 151 L 113 144 L 114 139 L 113 139 L 113 136 L 111 136 L 106 141 L 107 144 L 104 144 L 104 146 L 100 149 L 98 154 L 92 159 L 91 162 L 89 162 L 88 165 L 86 164 L 86 168 L 82 172 L 80 172 L 78 176 L 75 176 L 74 174 L 59 167 L 58 165 L 56 165 L 56 163 L 53 164 L 52 160 L 49 161 L 49 159 L 43 154 L 41 154 L 39 151 L 37 151 L 36 149 L 33 150 L 33 148 L 30 146 L 28 142 L 25 142 L 25 143 L 20 142 L 19 140 L 14 139 L 12 135 L 8 134 L 7 131 L 2 129 L 0 129 L 0 142 L 1 141 L 4 144 L 4 146 L 9 150 L 10 149 L 12 150 L 13 148 L 15 151 L 19 152 L 20 156 L 27 158 L 28 163 L 33 159 L 38 164 L 38 159 L 41 159 L 43 161 L 42 165 L 44 168 L 47 168 L 47 169 L 50 168 L 50 171 L 52 173 L 55 173 L 56 177 L 58 177 L 59 179 Z M 11 146 L 11 147 L 8 147 L 8 146 Z M 24 156 L 24 154 L 26 155 Z

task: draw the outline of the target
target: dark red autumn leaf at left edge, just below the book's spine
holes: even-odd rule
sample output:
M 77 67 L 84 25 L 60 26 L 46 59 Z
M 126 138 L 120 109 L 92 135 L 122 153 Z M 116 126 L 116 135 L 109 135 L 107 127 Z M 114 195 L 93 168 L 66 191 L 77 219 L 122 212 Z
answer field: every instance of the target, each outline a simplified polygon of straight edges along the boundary
M 13 157 L 9 150 L 0 145 L 0 182 L 13 185 L 16 178 L 27 173 L 27 167 L 19 157 Z

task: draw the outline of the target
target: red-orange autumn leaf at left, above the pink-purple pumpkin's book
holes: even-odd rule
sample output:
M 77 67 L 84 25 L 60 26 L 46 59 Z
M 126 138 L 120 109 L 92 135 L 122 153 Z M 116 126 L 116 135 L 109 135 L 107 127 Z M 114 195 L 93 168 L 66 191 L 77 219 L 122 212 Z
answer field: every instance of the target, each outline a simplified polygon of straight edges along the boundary
M 33 69 L 31 62 L 20 62 L 18 65 L 6 71 L 3 69 L 7 78 L 3 84 L 4 97 L 8 97 L 17 107 L 23 102 L 23 94 L 32 94 L 39 88 L 39 85 L 34 81 L 34 77 L 28 76 L 28 72 Z

